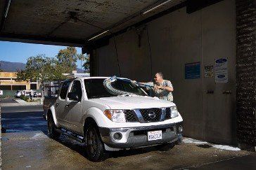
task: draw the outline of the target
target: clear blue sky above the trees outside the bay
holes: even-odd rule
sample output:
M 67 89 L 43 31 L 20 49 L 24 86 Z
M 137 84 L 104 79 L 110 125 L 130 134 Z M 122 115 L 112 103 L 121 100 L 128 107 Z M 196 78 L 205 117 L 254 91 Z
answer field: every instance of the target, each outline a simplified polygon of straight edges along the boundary
M 35 55 L 45 54 L 47 57 L 55 57 L 63 48 L 66 46 L 0 41 L 0 60 L 26 63 L 28 57 Z M 77 48 L 77 53 L 81 54 L 82 48 Z M 80 65 L 78 61 L 77 67 L 80 68 Z

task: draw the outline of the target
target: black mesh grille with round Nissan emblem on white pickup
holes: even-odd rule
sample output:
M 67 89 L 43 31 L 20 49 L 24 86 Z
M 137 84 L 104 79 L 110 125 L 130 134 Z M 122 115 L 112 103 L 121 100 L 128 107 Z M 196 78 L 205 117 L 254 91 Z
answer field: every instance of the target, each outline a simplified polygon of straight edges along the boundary
M 160 122 L 170 118 L 170 108 L 124 110 L 127 122 Z

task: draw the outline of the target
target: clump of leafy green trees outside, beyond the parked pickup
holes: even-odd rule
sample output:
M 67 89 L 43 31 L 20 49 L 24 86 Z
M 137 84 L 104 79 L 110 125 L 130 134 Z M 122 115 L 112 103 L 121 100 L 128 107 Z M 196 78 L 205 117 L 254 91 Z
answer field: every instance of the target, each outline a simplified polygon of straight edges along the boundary
M 72 73 L 76 70 L 77 59 L 84 59 L 83 55 L 77 54 L 74 47 L 59 50 L 55 58 L 37 55 L 27 59 L 25 70 L 18 70 L 18 81 L 36 81 L 44 85 L 45 82 L 63 80 L 63 73 Z

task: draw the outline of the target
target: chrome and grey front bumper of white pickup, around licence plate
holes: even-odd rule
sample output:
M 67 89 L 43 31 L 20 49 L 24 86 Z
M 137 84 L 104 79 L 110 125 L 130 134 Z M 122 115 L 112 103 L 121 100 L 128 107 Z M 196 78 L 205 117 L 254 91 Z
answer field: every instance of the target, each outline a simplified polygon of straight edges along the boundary
M 148 141 L 148 132 L 157 130 L 162 131 L 162 139 Z M 143 146 L 159 145 L 162 143 L 181 143 L 182 122 L 150 127 L 99 127 L 99 131 L 103 143 L 105 143 L 105 145 L 110 148 L 139 148 Z M 119 137 L 121 136 L 122 138 L 117 140 L 114 135 L 117 135 Z

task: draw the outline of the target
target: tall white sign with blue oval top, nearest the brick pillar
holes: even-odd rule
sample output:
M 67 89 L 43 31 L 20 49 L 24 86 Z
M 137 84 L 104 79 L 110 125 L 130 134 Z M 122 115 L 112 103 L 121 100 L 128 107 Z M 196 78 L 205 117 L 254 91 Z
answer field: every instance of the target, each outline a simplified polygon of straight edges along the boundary
M 228 83 L 228 59 L 215 59 L 215 83 Z

